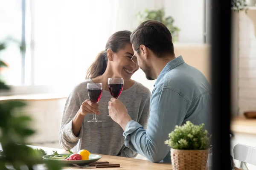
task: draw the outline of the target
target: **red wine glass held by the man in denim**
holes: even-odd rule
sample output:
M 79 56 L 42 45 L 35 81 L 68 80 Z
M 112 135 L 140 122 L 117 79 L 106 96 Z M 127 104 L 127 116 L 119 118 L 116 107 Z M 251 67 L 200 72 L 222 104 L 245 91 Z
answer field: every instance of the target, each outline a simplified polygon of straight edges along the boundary
M 108 78 L 108 89 L 114 98 L 118 98 L 122 93 L 124 79 L 122 78 Z M 108 115 L 109 116 L 109 115 Z

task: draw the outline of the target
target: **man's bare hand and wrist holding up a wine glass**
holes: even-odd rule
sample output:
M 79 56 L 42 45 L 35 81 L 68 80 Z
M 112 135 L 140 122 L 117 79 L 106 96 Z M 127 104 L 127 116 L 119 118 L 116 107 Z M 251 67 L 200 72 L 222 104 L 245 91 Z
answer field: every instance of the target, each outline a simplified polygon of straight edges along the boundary
M 118 123 L 123 130 L 125 130 L 126 125 L 132 119 L 128 115 L 128 111 L 125 105 L 119 100 L 115 98 L 111 98 L 108 102 L 108 113 L 111 116 L 111 119 Z

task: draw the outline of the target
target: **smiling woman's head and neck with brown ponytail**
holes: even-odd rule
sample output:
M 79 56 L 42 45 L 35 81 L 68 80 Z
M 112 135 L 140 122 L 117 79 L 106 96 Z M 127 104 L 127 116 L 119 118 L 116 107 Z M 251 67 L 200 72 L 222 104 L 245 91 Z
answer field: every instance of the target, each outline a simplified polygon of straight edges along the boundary
M 86 78 L 96 78 L 106 72 L 115 72 L 125 80 L 139 68 L 132 62 L 133 50 L 130 43 L 131 31 L 118 31 L 109 37 L 105 51 L 99 53 L 89 67 Z M 112 73 L 113 74 L 113 73 Z

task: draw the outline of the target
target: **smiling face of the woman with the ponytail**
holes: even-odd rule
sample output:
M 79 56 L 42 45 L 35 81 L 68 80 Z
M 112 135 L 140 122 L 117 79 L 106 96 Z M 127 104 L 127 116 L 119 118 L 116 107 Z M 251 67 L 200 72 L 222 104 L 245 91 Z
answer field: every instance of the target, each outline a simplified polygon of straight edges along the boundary
M 133 54 L 131 43 L 127 43 L 124 48 L 113 53 L 111 66 L 115 77 L 122 77 L 124 80 L 129 80 L 135 71 L 139 69 L 139 66 L 131 60 Z

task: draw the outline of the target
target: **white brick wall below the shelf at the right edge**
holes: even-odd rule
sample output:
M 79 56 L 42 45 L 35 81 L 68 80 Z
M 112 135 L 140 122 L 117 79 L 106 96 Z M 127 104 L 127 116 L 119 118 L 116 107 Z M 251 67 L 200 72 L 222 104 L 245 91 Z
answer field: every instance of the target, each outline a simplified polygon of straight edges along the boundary
M 254 17 L 256 20 L 256 15 Z M 256 37 L 252 20 L 239 14 L 239 114 L 256 110 Z

